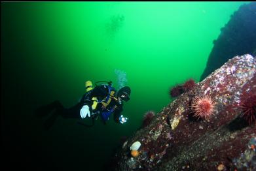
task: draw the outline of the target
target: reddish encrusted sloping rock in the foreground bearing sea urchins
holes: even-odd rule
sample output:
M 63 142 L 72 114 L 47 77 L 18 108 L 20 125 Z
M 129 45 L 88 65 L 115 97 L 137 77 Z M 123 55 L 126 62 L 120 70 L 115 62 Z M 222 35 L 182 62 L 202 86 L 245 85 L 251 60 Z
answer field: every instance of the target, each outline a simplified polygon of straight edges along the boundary
M 256 123 L 242 115 L 241 99 L 256 93 L 256 59 L 229 59 L 194 89 L 170 102 L 150 125 L 128 138 L 115 153 L 111 170 L 253 170 L 256 168 Z M 214 112 L 207 119 L 192 114 L 191 102 L 210 95 Z M 139 155 L 130 146 L 141 143 Z

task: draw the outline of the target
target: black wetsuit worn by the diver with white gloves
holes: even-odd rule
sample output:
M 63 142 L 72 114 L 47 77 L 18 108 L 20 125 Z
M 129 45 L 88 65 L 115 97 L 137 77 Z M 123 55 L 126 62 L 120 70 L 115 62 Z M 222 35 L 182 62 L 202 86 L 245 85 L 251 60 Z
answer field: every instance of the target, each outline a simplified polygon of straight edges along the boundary
M 45 116 L 46 114 L 49 114 L 50 112 L 52 112 L 52 110 L 55 110 L 52 113 L 52 115 L 46 120 L 45 128 L 48 129 L 53 125 L 56 117 L 58 116 L 62 116 L 64 118 L 81 118 L 80 110 L 84 105 L 89 106 L 90 114 L 91 114 L 90 118 L 92 118 L 93 123 L 94 123 L 94 119 L 99 114 L 101 116 L 102 112 L 107 111 L 113 108 L 114 106 L 117 106 L 117 108 L 115 108 L 115 110 L 113 111 L 113 115 L 114 115 L 113 117 L 114 117 L 114 120 L 117 123 L 119 123 L 119 116 L 120 116 L 120 113 L 122 112 L 123 103 L 119 104 L 119 102 L 115 101 L 115 99 L 111 99 L 111 102 L 109 103 L 109 105 L 107 105 L 106 108 L 103 108 L 103 105 L 101 103 L 98 103 L 96 109 L 92 110 L 92 104 L 94 102 L 92 100 L 92 97 L 96 97 L 99 101 L 101 101 L 105 99 L 107 95 L 109 95 L 109 89 L 107 85 L 98 85 L 91 91 L 84 93 L 81 101 L 75 104 L 75 106 L 72 106 L 71 108 L 64 108 L 64 106 L 60 103 L 60 101 L 54 101 L 46 106 L 41 106 L 40 108 L 37 108 L 37 110 L 35 111 L 35 114 L 37 116 Z M 104 119 L 102 119 L 102 121 L 103 123 L 105 123 Z

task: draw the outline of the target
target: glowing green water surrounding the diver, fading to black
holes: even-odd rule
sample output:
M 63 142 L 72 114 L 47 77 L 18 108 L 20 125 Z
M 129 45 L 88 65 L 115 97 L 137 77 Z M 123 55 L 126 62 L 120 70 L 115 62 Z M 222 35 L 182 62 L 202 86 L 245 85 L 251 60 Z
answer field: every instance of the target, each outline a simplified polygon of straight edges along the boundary
M 1 130 L 6 161 L 24 168 L 101 170 L 121 136 L 148 110 L 160 112 L 170 87 L 196 82 L 221 27 L 244 2 L 1 3 Z M 126 72 L 132 93 L 124 125 L 76 119 L 45 131 L 33 110 L 56 99 L 69 108 L 84 82 Z M 16 157 L 14 157 L 16 156 Z M 13 158 L 14 157 L 14 158 Z M 30 163 L 30 164 L 27 164 Z M 43 169 L 42 169 L 43 170 Z

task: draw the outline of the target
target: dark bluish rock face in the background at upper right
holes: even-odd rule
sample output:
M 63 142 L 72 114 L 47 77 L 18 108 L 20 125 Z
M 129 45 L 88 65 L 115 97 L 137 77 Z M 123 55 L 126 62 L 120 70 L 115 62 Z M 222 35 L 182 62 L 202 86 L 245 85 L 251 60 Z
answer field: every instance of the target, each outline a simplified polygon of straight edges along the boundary
M 221 28 L 221 34 L 213 41 L 213 49 L 208 57 L 202 81 L 215 69 L 235 55 L 251 54 L 256 56 L 256 2 L 242 5 L 230 21 Z

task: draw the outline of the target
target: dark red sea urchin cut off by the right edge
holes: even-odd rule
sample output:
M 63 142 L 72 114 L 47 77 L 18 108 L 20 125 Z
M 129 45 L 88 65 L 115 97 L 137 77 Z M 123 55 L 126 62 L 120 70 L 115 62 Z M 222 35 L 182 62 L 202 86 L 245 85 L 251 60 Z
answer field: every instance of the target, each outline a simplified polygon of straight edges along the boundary
M 256 121 L 256 95 L 253 93 L 244 95 L 241 101 L 241 108 L 243 111 L 242 117 L 246 119 L 247 123 L 249 125 L 254 123 Z

